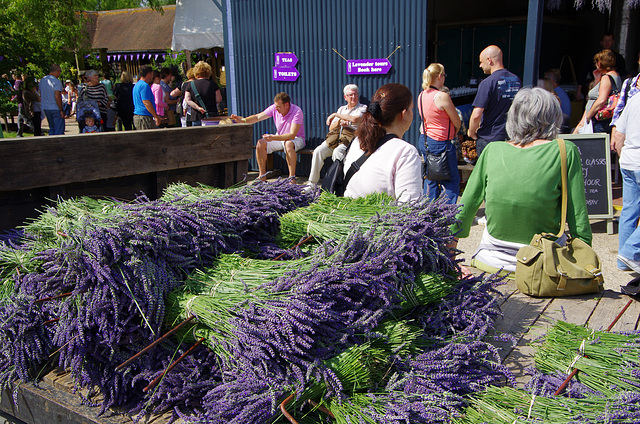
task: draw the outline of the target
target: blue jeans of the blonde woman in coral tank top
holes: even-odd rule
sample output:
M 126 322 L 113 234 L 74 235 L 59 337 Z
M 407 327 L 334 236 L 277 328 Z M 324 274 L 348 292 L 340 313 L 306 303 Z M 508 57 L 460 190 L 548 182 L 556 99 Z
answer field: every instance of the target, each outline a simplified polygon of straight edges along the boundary
M 449 165 L 451 179 L 444 181 L 429 181 L 425 179 L 423 193 L 429 196 L 429 200 L 435 200 L 444 193 L 447 198 L 447 203 L 455 205 L 460 195 L 460 174 L 458 173 L 458 153 L 456 152 L 456 146 L 451 140 L 438 141 L 431 137 L 426 137 L 424 134 L 420 134 L 420 153 L 425 159 L 425 140 L 429 147 L 429 152 L 434 155 L 442 153 L 445 149 L 447 150 L 447 165 Z

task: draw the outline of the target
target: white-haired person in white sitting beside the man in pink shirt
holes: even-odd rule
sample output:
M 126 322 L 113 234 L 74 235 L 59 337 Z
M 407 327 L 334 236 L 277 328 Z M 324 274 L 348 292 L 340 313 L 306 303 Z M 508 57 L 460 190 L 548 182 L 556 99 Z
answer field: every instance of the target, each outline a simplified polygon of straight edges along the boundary
M 333 156 L 333 160 L 335 160 L 344 156 L 347 146 L 355 135 L 362 114 L 367 109 L 358 101 L 360 93 L 357 85 L 347 84 L 342 91 L 347 104 L 341 106 L 336 113 L 332 113 L 327 118 L 329 132 L 325 141 L 313 150 L 311 173 L 305 190 L 313 190 L 318 185 L 320 170 L 326 158 Z

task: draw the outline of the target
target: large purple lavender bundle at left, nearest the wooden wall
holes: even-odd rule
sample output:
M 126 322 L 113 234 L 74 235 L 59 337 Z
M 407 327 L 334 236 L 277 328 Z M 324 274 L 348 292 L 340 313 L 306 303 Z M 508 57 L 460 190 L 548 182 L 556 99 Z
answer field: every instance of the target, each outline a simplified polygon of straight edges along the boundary
M 14 276 L 15 297 L 70 292 L 56 302 L 61 305 L 50 349 L 60 348 L 58 363 L 71 368 L 78 387 L 100 389 L 103 410 L 124 404 L 134 393 L 128 388 L 132 376 L 114 373 L 113 367 L 157 337 L 164 294 L 222 252 L 260 250 L 263 243 L 272 243 L 278 215 L 309 200 L 301 189 L 281 183 L 205 201 L 139 198 L 118 204 L 113 218 L 89 214 L 69 227 L 57 246 L 37 252 L 37 270 Z M 0 310 L 4 340 L 27 331 L 24 321 L 12 321 L 9 314 L 8 308 Z M 3 387 L 28 375 L 21 367 L 31 364 L 15 361 L 9 345 L 0 348 Z

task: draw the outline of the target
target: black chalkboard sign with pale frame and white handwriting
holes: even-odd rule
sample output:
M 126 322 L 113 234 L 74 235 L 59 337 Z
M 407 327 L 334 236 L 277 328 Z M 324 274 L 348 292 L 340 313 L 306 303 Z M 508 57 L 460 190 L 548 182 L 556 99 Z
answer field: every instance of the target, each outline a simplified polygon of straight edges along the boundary
M 608 134 L 562 134 L 578 146 L 589 218 L 613 218 L 611 148 Z

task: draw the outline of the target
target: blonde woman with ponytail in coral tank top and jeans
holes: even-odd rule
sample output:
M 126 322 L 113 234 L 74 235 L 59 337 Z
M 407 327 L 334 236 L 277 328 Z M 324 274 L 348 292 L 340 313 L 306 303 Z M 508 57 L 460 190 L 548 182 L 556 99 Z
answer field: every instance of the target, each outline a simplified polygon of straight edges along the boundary
M 429 199 L 438 198 L 443 192 L 448 203 L 455 204 L 460 195 L 460 174 L 458 174 L 458 155 L 455 144 L 460 125 L 460 116 L 453 105 L 451 96 L 440 91 L 447 74 L 440 63 L 432 63 L 422 73 L 422 88 L 418 95 L 418 112 L 422 118 L 420 125 L 420 151 L 426 160 L 427 151 L 433 155 L 447 152 L 447 165 L 451 179 L 442 181 L 424 181 L 424 193 Z

